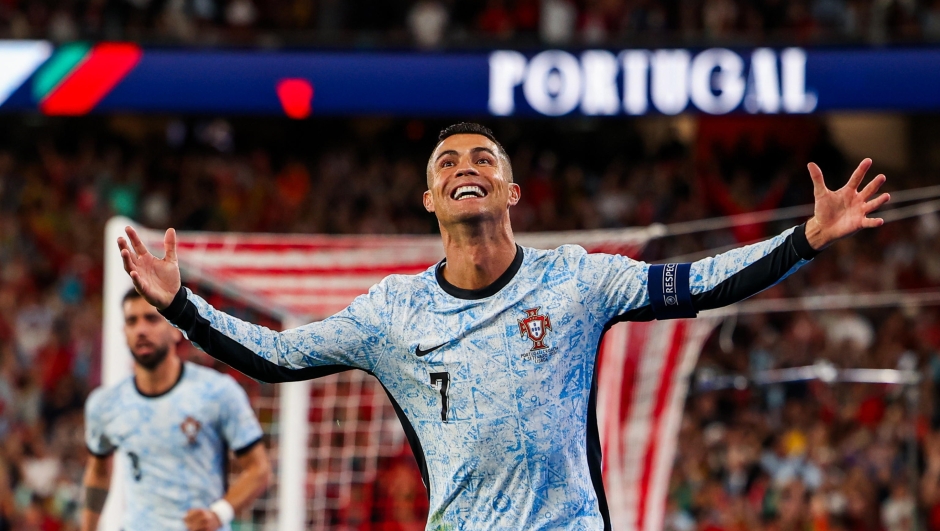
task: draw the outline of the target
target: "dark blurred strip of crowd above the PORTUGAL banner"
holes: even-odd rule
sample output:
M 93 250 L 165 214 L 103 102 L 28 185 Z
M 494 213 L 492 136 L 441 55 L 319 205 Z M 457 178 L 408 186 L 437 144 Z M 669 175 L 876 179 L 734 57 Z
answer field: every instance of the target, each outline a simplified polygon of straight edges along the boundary
M 937 0 L 5 0 L 0 38 L 357 47 L 940 40 Z

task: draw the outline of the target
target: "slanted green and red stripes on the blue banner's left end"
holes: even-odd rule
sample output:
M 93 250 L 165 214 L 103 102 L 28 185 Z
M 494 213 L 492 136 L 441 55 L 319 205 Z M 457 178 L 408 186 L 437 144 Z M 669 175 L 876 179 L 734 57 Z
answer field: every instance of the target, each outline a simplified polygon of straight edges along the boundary
M 33 97 L 43 114 L 87 114 L 137 66 L 136 44 L 73 43 L 56 50 L 33 78 Z

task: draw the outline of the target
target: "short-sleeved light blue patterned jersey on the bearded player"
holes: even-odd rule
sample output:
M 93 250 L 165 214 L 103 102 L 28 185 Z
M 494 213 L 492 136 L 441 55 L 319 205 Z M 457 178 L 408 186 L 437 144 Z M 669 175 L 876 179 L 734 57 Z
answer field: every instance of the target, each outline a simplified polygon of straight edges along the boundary
M 127 457 L 124 531 L 185 530 L 188 510 L 225 494 L 229 449 L 247 451 L 261 436 L 241 386 L 188 362 L 159 396 L 141 394 L 128 378 L 96 389 L 85 404 L 88 450 Z

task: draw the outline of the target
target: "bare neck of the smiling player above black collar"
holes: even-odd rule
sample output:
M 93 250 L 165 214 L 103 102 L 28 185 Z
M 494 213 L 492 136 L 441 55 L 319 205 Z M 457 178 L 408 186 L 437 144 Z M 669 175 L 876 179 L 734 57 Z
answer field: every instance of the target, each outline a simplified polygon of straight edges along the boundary
M 489 226 L 487 226 L 489 225 Z M 481 289 L 496 281 L 516 257 L 516 240 L 505 219 L 487 224 L 441 225 L 444 278 L 461 289 Z

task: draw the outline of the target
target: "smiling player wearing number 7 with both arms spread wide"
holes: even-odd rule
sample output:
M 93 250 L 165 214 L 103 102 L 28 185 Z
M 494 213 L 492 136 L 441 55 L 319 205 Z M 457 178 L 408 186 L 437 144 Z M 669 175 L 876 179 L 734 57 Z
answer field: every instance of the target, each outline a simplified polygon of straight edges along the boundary
M 190 340 L 255 378 L 286 382 L 347 369 L 374 375 L 395 406 L 430 497 L 427 529 L 609 529 L 595 416 L 601 336 L 623 320 L 694 317 L 772 286 L 867 215 L 885 177 L 827 190 L 808 222 L 694 263 L 649 265 L 565 245 L 523 248 L 509 157 L 477 124 L 441 132 L 424 207 L 445 258 L 391 275 L 338 314 L 284 332 L 226 315 L 181 286 L 176 233 L 165 256 L 130 227 L 118 245 L 137 289 Z

